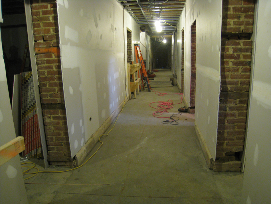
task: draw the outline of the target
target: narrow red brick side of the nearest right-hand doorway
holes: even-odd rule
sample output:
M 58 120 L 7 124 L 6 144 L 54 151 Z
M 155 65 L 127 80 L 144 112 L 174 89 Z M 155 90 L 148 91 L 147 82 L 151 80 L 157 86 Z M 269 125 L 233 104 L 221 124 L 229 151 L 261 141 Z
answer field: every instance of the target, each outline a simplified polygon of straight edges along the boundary
M 196 98 L 196 21 L 191 25 L 191 85 L 190 107 L 195 108 Z M 192 112 L 190 112 L 192 113 Z

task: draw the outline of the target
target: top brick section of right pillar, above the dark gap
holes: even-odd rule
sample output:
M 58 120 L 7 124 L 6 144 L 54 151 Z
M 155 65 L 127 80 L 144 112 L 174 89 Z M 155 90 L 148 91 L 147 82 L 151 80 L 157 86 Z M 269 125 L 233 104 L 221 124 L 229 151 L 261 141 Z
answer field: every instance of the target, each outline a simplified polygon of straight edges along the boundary
M 222 33 L 252 33 L 254 0 L 223 0 Z

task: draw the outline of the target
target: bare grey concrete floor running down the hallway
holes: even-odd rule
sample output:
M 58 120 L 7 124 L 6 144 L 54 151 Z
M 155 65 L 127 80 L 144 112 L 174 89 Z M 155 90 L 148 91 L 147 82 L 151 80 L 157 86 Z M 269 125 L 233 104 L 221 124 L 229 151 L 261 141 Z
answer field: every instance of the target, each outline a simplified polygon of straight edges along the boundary
M 178 89 L 175 86 L 155 91 L 177 93 Z M 193 115 L 179 115 L 179 125 L 162 124 L 163 119 L 152 116 L 155 109 L 149 103 L 169 99 L 181 101 L 179 95 L 157 96 L 146 89 L 136 99 L 132 96 L 115 128 L 102 138 L 104 145 L 83 167 L 65 173 L 42 173 L 26 180 L 43 183 L 25 184 L 29 203 L 239 203 L 242 174 L 208 169 Z M 178 113 L 183 106 L 174 105 L 167 115 Z

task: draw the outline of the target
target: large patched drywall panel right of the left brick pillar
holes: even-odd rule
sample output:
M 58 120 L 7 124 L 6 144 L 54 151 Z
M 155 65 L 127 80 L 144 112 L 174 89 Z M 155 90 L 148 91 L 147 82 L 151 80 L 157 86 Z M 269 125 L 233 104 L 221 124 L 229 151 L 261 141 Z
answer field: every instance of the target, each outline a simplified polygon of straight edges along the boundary
M 59 0 L 57 5 L 64 97 L 74 157 L 125 98 L 123 12 L 114 0 Z

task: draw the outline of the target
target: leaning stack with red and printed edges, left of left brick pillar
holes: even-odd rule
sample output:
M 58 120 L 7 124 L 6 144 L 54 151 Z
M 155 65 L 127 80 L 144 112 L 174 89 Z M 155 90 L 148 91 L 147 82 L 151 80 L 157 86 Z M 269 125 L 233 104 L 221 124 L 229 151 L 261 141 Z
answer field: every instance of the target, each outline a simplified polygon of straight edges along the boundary
M 32 72 L 21 73 L 21 124 L 25 140 L 23 156 L 42 159 L 41 136 Z

